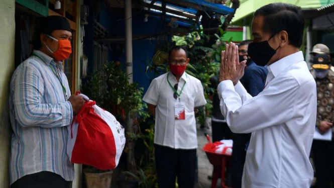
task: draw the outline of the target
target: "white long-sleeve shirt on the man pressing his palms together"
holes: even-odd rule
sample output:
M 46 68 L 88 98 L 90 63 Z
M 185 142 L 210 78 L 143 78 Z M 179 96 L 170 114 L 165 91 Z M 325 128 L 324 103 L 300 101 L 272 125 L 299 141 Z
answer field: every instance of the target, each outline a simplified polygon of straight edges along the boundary
M 316 84 L 301 51 L 268 66 L 265 89 L 252 98 L 239 82 L 218 85 L 221 113 L 235 133 L 252 133 L 243 188 L 310 187 L 309 153 Z

